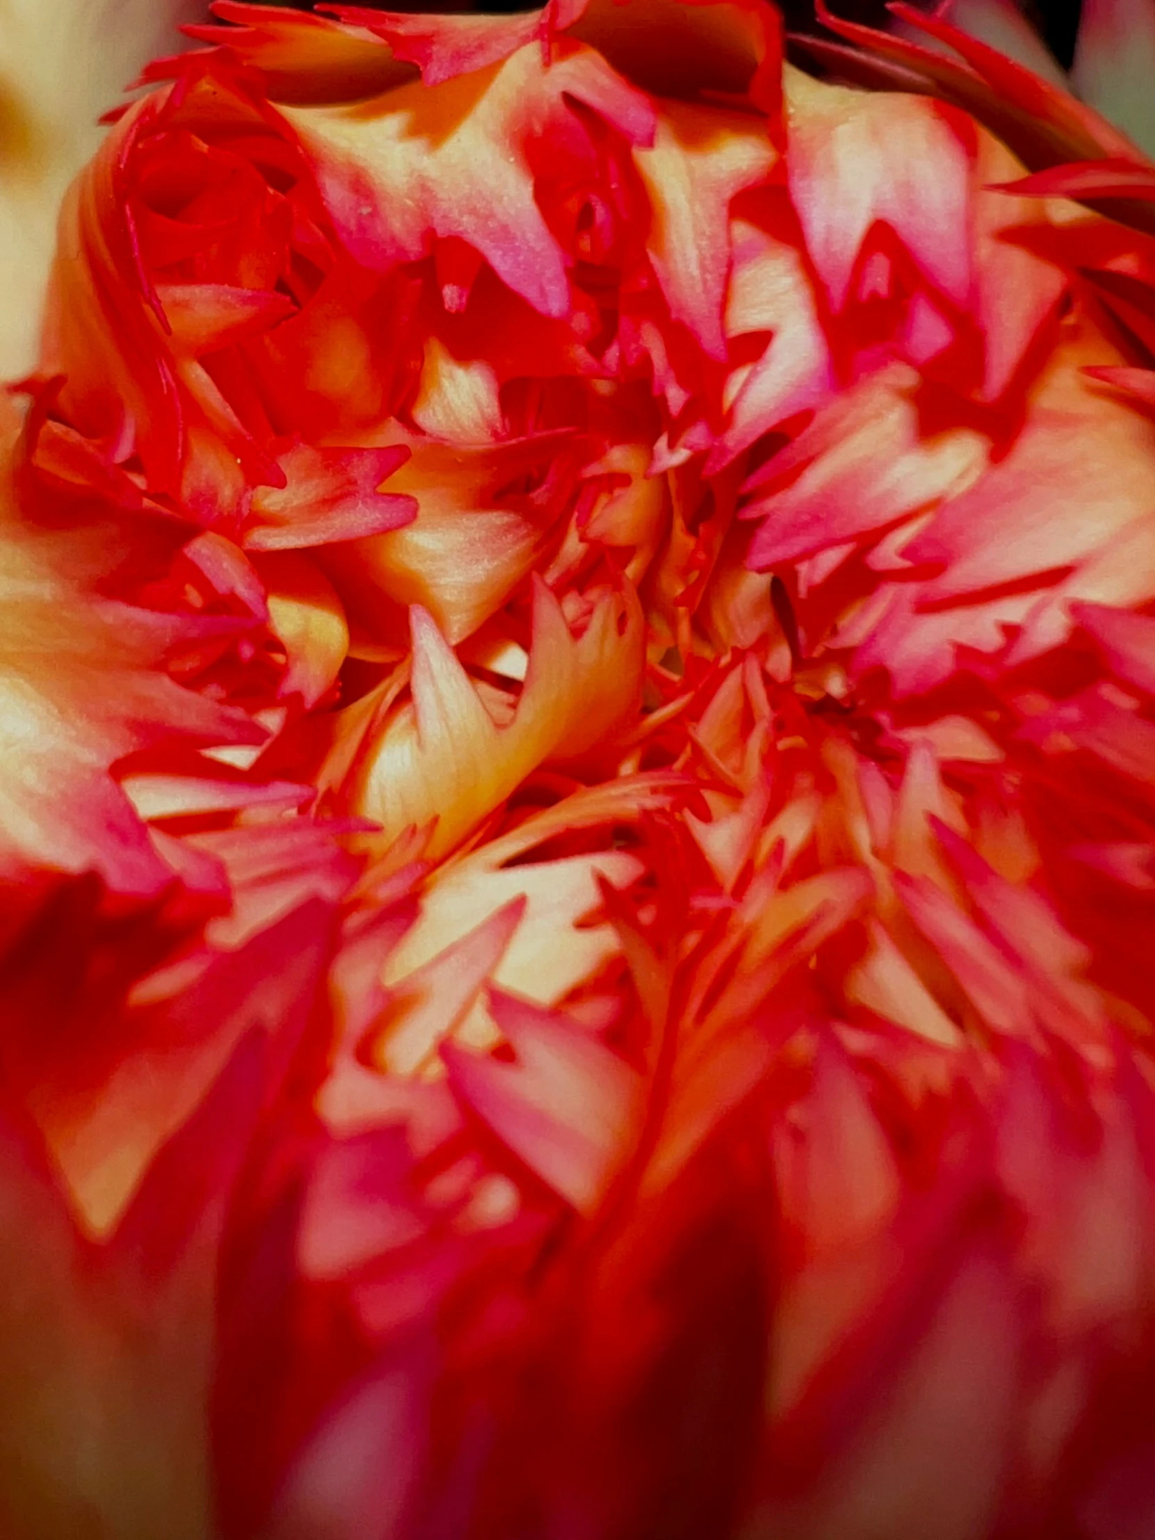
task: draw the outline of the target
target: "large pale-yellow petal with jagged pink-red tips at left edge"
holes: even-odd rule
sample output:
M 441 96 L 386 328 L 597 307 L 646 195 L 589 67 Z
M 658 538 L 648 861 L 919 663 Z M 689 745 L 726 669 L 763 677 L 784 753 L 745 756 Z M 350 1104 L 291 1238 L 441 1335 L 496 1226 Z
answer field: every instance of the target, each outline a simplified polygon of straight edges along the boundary
M 126 557 L 123 530 L 25 521 L 15 425 L 0 408 L 0 873 L 95 870 L 120 892 L 156 893 L 172 873 L 109 767 L 165 736 L 265 733 L 169 678 L 180 616 L 102 598 Z

